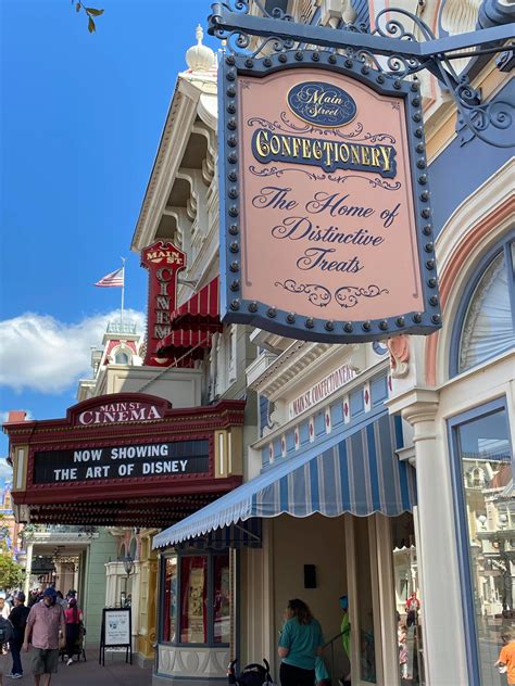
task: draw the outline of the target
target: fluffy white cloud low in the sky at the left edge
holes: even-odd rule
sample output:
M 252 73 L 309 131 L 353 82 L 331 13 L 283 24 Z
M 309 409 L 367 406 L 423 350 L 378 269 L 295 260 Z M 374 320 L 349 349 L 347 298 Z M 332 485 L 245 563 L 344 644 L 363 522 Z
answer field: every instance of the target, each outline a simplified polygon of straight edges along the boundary
M 78 379 L 89 378 L 91 346 L 101 347 L 108 322 L 118 316 L 113 312 L 64 323 L 49 315 L 26 313 L 0 321 L 0 385 L 61 393 Z M 143 331 L 142 313 L 128 309 L 126 320 Z

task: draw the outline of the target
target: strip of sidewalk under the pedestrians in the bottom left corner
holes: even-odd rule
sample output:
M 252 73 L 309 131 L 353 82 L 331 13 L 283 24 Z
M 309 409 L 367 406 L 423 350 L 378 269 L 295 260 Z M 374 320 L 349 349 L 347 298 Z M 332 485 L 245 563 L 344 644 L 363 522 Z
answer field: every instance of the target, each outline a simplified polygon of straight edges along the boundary
M 87 651 L 87 662 L 74 662 L 66 666 L 66 662 L 59 663 L 59 672 L 52 676 L 51 686 L 150 686 L 152 670 L 137 666 L 136 664 L 125 664 L 125 653 L 116 657 L 115 660 L 108 660 L 105 656 L 105 666 L 99 665 L 98 650 Z M 34 679 L 30 675 L 30 653 L 22 653 L 24 668 L 23 678 L 3 677 L 4 686 L 17 684 L 18 686 L 32 686 Z M 11 659 L 9 658 L 9 669 L 11 670 Z

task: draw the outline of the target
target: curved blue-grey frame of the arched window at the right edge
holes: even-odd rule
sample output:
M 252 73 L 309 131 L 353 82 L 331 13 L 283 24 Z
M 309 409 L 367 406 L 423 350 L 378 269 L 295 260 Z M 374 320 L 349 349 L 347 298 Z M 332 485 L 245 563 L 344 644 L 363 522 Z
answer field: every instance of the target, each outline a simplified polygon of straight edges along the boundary
M 485 276 L 485 271 L 488 269 L 489 265 L 495 259 L 498 255 L 501 253 L 504 254 L 504 265 L 507 270 L 507 284 L 508 284 L 508 296 L 510 296 L 510 306 L 512 309 L 512 326 L 515 331 L 515 263 L 514 255 L 512 253 L 511 245 L 515 242 L 515 228 L 508 231 L 505 236 L 502 237 L 501 240 L 497 241 L 494 245 L 490 247 L 490 250 L 481 256 L 479 262 L 474 266 L 474 278 L 467 283 L 465 291 L 462 295 L 460 306 L 457 308 L 454 328 L 452 330 L 451 335 L 451 354 L 449 356 L 449 378 L 452 379 L 457 377 L 459 374 L 466 373 L 472 369 L 477 369 L 480 365 L 483 365 L 489 359 L 497 357 L 499 353 L 493 353 L 492 355 L 485 357 L 477 365 L 468 367 L 468 369 L 460 370 L 460 352 L 461 352 L 461 340 L 463 326 L 465 323 L 465 317 L 468 310 L 468 306 L 470 304 L 474 292 L 479 283 L 479 281 Z M 511 268 L 510 268 L 511 267 Z M 511 288 L 510 288 L 511 287 Z

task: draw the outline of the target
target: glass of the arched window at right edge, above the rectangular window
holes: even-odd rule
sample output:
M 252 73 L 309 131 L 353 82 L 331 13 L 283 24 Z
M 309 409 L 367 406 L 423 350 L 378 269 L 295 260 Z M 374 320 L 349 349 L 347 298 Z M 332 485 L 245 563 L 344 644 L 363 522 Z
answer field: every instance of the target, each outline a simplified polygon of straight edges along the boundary
M 515 345 L 504 253 L 487 267 L 468 305 L 460 340 L 460 371 Z

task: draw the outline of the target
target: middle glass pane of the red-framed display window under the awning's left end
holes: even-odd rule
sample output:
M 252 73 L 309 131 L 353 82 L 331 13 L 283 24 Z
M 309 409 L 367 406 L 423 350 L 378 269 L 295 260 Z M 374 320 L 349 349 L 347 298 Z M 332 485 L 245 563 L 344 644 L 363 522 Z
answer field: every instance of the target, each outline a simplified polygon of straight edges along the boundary
M 208 558 L 180 558 L 180 643 L 208 641 Z

